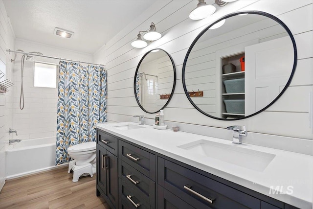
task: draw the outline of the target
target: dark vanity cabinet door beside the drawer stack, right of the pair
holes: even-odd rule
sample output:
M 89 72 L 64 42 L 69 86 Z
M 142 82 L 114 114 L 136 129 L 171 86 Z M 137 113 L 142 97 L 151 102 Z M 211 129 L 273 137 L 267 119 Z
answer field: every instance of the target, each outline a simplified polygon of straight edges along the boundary
M 118 204 L 118 173 L 117 157 L 107 151 L 107 196 L 112 204 L 117 208 Z

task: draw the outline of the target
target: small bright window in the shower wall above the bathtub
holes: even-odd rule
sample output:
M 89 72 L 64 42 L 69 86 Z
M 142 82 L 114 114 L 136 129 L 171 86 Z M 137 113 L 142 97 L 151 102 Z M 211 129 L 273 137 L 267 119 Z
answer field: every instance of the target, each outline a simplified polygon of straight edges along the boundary
M 57 65 L 34 62 L 34 87 L 57 87 Z

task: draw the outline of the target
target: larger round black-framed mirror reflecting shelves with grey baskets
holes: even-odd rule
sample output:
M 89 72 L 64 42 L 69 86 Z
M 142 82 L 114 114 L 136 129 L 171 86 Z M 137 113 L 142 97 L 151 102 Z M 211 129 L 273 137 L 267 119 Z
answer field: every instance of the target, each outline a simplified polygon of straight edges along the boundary
M 242 119 L 285 92 L 296 62 L 294 38 L 282 21 L 259 11 L 232 13 L 205 28 L 190 46 L 183 88 L 202 114 Z

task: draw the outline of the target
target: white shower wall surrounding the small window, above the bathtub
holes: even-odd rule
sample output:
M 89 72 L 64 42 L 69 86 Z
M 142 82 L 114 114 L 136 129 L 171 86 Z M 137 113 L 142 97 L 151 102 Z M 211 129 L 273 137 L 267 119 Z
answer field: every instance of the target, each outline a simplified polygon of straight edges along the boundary
M 16 39 L 15 49 L 25 52 L 39 51 L 47 56 L 56 56 L 72 60 L 92 63 L 92 55 L 64 48 Z M 59 60 L 36 57 L 31 61 L 25 60 L 23 73 L 24 109 L 20 110 L 21 92 L 21 57 L 19 54 L 14 62 L 14 99 L 13 99 L 13 128 L 18 136 L 14 139 L 35 139 L 56 137 L 58 88 L 34 87 L 34 61 L 53 63 Z M 58 69 L 59 70 L 59 69 Z

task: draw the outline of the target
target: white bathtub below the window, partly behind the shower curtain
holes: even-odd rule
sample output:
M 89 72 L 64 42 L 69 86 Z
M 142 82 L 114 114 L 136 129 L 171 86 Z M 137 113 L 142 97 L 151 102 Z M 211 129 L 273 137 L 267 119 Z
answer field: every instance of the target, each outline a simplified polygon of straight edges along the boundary
M 56 168 L 56 137 L 22 139 L 6 147 L 6 179 Z

